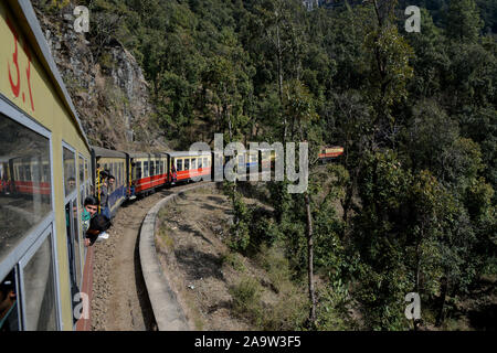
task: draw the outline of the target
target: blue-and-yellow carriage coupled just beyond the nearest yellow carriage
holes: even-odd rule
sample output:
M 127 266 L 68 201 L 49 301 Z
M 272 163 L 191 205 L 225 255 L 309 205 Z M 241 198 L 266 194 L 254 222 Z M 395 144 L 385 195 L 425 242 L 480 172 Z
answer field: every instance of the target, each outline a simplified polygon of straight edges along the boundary
M 114 176 L 114 183 L 107 181 L 108 190 L 108 211 L 110 217 L 116 215 L 117 210 L 128 199 L 129 194 L 129 165 L 130 157 L 126 152 L 114 151 L 102 147 L 92 147 L 94 161 L 94 179 L 96 182 L 95 195 L 101 201 L 101 192 L 104 182 L 104 175 Z M 104 212 L 101 204 L 99 212 Z

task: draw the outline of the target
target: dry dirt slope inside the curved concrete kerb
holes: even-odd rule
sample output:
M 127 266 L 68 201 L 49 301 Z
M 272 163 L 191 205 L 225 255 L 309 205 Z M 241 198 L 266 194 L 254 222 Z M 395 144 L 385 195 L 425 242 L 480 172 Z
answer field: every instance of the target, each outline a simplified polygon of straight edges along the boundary
M 258 259 L 230 252 L 225 240 L 232 217 L 230 200 L 215 189 L 186 193 L 159 213 L 157 252 L 192 330 L 268 329 L 266 310 L 277 311 L 283 322 L 294 314 L 284 312 L 285 307 L 298 311 L 298 304 L 286 300 L 306 302 L 305 293 L 289 280 L 273 284 Z

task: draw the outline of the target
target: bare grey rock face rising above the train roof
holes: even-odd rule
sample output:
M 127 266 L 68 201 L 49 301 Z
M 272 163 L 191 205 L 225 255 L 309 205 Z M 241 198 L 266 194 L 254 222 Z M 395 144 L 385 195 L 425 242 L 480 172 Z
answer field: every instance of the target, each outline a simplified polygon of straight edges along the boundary
M 89 142 L 126 151 L 167 149 L 135 57 L 117 41 L 95 50 L 88 33 L 74 31 L 72 4 L 56 14 L 33 6 Z

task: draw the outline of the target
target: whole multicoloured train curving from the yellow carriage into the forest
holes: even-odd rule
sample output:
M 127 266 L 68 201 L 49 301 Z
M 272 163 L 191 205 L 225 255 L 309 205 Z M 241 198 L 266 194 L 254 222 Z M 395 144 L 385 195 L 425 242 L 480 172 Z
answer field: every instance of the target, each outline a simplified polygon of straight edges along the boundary
M 0 2 L 0 332 L 89 330 L 94 250 L 81 213 L 103 175 L 115 178 L 114 216 L 158 188 L 213 179 L 228 159 L 92 146 L 29 1 Z M 276 158 L 247 151 L 237 169 L 267 170 Z

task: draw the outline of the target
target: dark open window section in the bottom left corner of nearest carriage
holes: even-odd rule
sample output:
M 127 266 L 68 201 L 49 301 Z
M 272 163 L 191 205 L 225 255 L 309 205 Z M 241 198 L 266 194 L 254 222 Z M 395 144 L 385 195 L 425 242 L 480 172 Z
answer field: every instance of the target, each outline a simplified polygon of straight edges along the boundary
M 19 331 L 19 290 L 15 270 L 0 281 L 0 332 Z

